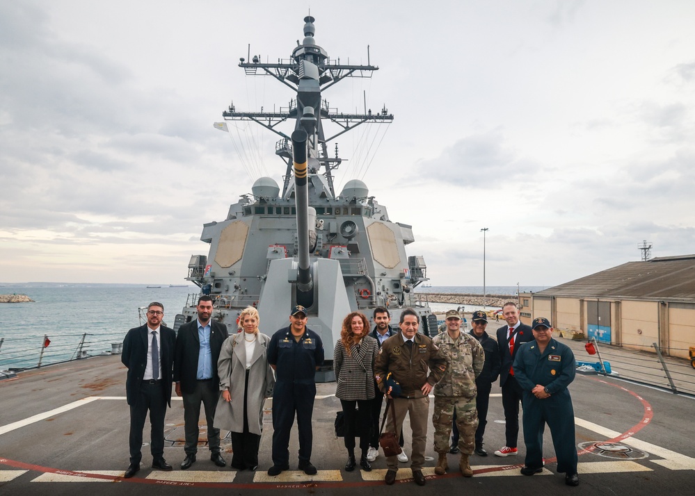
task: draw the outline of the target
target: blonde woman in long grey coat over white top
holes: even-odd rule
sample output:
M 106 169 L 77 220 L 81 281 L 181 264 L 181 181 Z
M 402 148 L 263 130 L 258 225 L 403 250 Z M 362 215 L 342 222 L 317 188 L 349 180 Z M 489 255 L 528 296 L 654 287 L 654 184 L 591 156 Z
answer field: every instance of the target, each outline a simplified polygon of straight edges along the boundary
M 258 331 L 258 311 L 239 315 L 243 332 L 225 340 L 217 364 L 221 397 L 215 427 L 232 433 L 232 468 L 256 470 L 263 430 L 263 405 L 273 395 L 275 375 L 266 350 L 270 338 Z

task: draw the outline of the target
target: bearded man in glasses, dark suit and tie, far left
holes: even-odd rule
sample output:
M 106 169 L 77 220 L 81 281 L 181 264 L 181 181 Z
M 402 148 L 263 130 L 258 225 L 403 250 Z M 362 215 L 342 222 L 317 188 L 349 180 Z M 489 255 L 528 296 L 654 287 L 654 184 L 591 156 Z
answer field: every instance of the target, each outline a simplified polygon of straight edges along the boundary
M 161 325 L 164 306 L 156 301 L 147 306 L 147 324 L 128 331 L 120 357 L 128 368 L 125 390 L 130 405 L 130 465 L 125 478 L 140 470 L 143 458 L 143 428 L 150 411 L 152 468 L 171 470 L 164 460 L 164 415 L 171 406 L 172 366 L 175 333 Z

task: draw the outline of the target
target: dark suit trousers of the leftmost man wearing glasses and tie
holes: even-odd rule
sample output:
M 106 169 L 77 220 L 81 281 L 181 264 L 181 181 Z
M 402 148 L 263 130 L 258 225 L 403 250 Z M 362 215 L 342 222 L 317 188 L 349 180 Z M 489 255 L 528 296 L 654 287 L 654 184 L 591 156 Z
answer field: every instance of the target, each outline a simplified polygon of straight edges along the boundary
M 164 454 L 164 415 L 166 399 L 164 383 L 150 384 L 145 381 L 140 386 L 136 404 L 130 406 L 130 464 L 138 465 L 143 459 L 143 429 L 150 412 L 150 452 L 152 460 L 159 461 Z

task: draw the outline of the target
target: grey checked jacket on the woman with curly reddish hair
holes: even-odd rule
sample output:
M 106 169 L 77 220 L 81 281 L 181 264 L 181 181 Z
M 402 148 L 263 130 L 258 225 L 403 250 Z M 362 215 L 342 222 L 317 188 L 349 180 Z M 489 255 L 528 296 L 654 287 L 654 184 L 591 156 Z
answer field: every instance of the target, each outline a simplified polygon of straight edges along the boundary
M 333 372 L 337 386 L 335 396 L 345 401 L 372 399 L 374 388 L 374 361 L 379 351 L 379 343 L 372 336 L 362 338 L 360 351 L 352 345 L 351 354 L 345 352 L 342 340 L 335 343 L 333 350 Z

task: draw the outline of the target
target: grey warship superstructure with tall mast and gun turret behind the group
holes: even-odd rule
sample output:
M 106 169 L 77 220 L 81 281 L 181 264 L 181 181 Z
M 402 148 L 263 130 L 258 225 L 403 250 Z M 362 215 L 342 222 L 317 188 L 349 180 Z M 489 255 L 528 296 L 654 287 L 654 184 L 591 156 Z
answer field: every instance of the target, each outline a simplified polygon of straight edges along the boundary
M 253 121 L 280 136 L 275 154 L 286 163 L 282 190 L 271 177 L 261 177 L 230 206 L 225 220 L 205 224 L 200 239 L 209 243 L 209 254 L 191 257 L 186 279 L 214 298 L 215 317 L 230 332 L 246 306 L 257 306 L 261 329 L 273 333 L 287 325 L 291 307 L 301 304 L 309 312 L 307 325 L 321 334 L 328 350 L 339 339 L 345 315 L 362 311 L 371 318 L 376 306 L 388 307 L 392 322 L 403 308 L 415 308 L 421 331 L 429 333 L 436 318 L 411 291 L 427 281 L 422 256 L 406 254 L 415 240 L 411 226 L 392 222 L 358 179 L 347 181 L 339 194 L 334 189 L 333 171 L 342 159 L 337 147 L 330 156 L 331 142 L 360 124 L 389 123 L 393 116 L 385 108 L 338 113 L 322 92 L 347 77 L 369 77 L 378 67 L 331 60 L 314 40 L 314 18 L 304 20 L 305 38 L 290 60 L 261 63 L 253 56 L 239 63 L 248 76 L 269 75 L 291 88 L 296 97 L 289 106 L 279 112 L 230 106 L 223 112 L 225 121 Z M 294 129 L 281 130 L 291 123 Z M 337 132 L 328 135 L 328 125 Z M 215 126 L 227 129 L 226 122 Z M 305 133 L 304 164 L 293 160 L 291 138 L 302 134 L 297 131 Z M 196 299 L 189 297 L 175 327 L 195 318 Z

